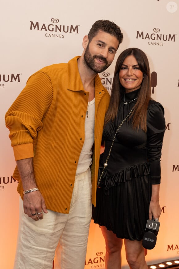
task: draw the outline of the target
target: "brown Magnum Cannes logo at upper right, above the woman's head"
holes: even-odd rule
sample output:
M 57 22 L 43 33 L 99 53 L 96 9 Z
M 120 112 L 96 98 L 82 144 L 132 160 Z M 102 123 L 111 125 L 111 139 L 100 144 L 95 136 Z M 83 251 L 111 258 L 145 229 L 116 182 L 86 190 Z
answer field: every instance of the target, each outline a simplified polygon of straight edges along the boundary
M 139 32 L 137 31 L 136 38 L 141 38 L 145 40 L 149 40 L 148 44 L 149 45 L 159 45 L 163 46 L 163 41 L 173 41 L 175 42 L 175 36 L 176 34 L 160 34 L 160 29 L 159 28 L 154 28 L 153 29 L 154 33 L 144 33 L 144 31 Z M 150 41 L 152 40 L 152 41 Z M 158 41 L 158 42 L 154 42 Z

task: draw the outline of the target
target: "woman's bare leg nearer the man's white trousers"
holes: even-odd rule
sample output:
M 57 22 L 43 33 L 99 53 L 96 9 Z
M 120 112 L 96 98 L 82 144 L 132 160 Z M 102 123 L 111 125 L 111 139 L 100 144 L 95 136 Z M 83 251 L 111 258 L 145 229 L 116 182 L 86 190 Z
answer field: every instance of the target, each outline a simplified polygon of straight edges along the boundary
M 121 249 L 123 239 L 116 237 L 112 231 L 108 231 L 105 226 L 101 226 L 101 231 L 106 242 L 106 269 L 121 269 Z

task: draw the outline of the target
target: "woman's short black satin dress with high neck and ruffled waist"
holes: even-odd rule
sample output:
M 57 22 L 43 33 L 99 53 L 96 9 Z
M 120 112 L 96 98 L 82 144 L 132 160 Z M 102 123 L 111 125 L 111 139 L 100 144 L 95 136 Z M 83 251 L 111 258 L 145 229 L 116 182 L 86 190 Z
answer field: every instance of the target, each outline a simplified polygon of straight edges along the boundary
M 106 162 L 119 124 L 135 105 L 139 90 L 125 94 L 119 105 L 116 120 L 103 131 Z M 164 109 L 150 100 L 147 112 L 147 133 L 135 131 L 131 119 L 117 132 L 106 167 L 107 176 L 102 188 L 97 188 L 97 202 L 93 211 L 94 223 L 106 226 L 117 237 L 130 240 L 143 238 L 149 213 L 151 184 L 160 184 L 160 157 L 165 131 Z

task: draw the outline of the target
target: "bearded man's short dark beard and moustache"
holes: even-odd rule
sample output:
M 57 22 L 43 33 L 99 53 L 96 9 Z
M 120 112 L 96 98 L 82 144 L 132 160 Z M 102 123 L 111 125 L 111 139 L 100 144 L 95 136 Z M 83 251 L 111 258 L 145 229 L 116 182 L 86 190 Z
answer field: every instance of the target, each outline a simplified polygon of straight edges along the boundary
M 97 58 L 99 60 L 102 60 L 104 62 L 104 66 L 100 67 L 98 64 L 94 62 L 94 59 Z M 84 54 L 84 62 L 87 67 L 89 67 L 91 70 L 93 70 L 95 73 L 101 73 L 104 70 L 106 70 L 111 63 L 108 63 L 106 58 L 100 56 L 100 55 L 91 55 L 89 51 L 89 46 L 87 46 Z

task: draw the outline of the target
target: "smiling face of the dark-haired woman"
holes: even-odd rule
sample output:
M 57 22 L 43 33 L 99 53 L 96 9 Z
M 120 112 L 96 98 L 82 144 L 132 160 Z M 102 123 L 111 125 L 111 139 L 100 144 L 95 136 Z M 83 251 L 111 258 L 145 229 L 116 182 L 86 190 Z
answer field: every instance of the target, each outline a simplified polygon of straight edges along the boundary
M 133 55 L 129 55 L 124 60 L 119 70 L 119 81 L 125 88 L 126 93 L 140 88 L 143 80 L 143 72 Z

